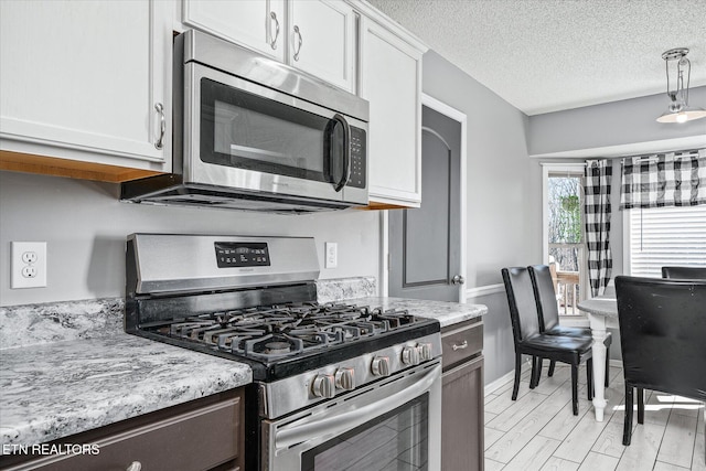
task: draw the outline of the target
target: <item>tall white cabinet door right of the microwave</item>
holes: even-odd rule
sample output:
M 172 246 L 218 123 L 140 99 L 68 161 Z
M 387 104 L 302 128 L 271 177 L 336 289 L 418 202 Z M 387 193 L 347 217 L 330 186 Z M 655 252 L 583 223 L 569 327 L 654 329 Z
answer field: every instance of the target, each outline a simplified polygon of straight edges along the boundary
M 421 51 L 367 18 L 361 20 L 361 95 L 370 101 L 370 199 L 421 202 Z

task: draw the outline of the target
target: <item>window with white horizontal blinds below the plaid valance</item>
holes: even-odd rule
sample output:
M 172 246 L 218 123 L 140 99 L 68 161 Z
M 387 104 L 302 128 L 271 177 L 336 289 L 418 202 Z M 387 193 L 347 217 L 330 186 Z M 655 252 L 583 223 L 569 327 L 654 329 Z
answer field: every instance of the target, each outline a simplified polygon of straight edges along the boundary
M 660 278 L 663 266 L 706 266 L 706 205 L 625 213 L 625 272 Z

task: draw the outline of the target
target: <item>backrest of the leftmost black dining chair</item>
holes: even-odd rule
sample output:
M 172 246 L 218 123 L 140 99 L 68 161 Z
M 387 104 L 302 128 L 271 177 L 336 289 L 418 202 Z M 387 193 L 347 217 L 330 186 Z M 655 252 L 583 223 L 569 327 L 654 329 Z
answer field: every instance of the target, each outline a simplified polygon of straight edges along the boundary
M 515 343 L 539 333 L 539 317 L 534 301 L 527 267 L 503 268 L 503 282 L 510 307 L 510 320 Z

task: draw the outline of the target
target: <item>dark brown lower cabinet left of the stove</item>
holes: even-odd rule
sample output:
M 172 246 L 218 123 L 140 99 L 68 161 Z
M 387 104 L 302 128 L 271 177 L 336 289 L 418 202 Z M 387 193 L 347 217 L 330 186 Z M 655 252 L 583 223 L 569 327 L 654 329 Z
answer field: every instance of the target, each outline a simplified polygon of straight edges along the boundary
M 239 471 L 243 394 L 221 393 L 46 443 L 94 446 L 79 454 L 2 457 L 7 471 Z M 10 463 L 10 461 L 15 461 Z

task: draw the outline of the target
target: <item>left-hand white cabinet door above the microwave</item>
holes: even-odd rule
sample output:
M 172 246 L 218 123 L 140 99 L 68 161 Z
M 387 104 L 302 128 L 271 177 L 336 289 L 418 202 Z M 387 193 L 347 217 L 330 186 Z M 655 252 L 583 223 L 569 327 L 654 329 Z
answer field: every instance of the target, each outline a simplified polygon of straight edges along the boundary
M 184 0 L 183 22 L 285 61 L 285 0 Z

